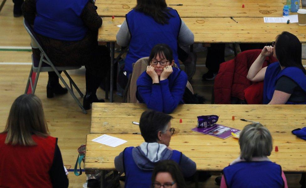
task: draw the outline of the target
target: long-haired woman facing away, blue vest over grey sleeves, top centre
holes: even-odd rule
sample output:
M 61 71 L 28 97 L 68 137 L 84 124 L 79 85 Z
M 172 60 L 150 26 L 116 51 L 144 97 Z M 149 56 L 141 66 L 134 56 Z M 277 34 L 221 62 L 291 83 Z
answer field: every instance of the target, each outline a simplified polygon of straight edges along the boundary
M 129 46 L 129 52 L 124 60 L 124 71 L 129 77 L 133 70 L 132 64 L 142 57 L 149 56 L 153 46 L 160 43 L 170 46 L 174 62 L 180 67 L 178 56 L 186 52 L 180 49 L 178 54 L 178 44 L 193 44 L 194 35 L 177 11 L 167 7 L 165 0 L 137 0 L 137 5 L 125 15 L 116 39 L 119 46 Z M 188 55 L 185 59 L 187 57 Z M 182 62 L 185 61 L 180 59 Z

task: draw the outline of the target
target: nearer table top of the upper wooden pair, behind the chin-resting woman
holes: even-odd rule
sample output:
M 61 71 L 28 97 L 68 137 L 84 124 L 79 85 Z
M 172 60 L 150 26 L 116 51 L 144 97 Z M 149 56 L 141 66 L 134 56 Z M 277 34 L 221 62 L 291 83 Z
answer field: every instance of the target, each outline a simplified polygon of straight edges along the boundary
M 98 42 L 115 42 L 119 31 L 117 25 L 125 18 L 103 17 Z M 298 23 L 264 23 L 263 18 L 183 18 L 194 34 L 195 43 L 271 43 L 275 37 L 288 31 L 306 43 L 306 26 Z

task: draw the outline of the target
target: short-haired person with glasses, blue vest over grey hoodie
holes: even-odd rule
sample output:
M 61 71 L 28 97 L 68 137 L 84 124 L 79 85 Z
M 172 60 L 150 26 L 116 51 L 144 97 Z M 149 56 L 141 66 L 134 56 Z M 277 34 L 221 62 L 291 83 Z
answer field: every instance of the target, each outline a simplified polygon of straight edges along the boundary
M 115 158 L 115 167 L 125 173 L 125 187 L 150 187 L 154 166 L 162 160 L 173 160 L 185 177 L 196 172 L 196 164 L 190 158 L 169 147 L 172 134 L 170 115 L 147 110 L 140 117 L 140 132 L 144 138 L 140 146 L 125 148 Z

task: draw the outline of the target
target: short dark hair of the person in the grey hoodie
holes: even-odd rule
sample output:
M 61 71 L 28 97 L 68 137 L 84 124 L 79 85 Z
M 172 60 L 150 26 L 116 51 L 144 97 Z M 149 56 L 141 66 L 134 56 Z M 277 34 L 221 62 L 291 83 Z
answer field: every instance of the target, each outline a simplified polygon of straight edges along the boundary
M 145 142 L 156 142 L 158 140 L 158 132 L 163 132 L 171 119 L 171 115 L 162 112 L 155 110 L 144 111 L 140 117 L 139 128 Z

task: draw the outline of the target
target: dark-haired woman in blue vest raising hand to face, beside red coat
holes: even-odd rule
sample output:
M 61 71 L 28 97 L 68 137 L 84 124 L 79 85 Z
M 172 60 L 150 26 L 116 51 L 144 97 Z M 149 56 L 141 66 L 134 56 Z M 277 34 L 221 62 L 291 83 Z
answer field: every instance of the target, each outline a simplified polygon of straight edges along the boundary
M 267 56 L 273 54 L 278 62 L 262 68 Z M 306 104 L 306 70 L 302 65 L 302 45 L 298 38 L 282 32 L 265 46 L 249 69 L 252 82 L 264 81 L 263 104 Z

